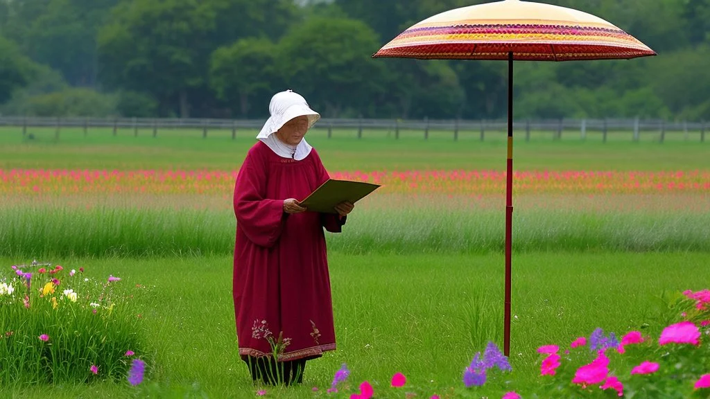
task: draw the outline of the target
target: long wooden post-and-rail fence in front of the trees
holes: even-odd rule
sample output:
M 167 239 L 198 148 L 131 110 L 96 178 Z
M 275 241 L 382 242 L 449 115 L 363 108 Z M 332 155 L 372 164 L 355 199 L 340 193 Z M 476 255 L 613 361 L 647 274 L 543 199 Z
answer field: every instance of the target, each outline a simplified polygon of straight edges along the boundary
M 160 130 L 192 129 L 201 130 L 202 136 L 207 138 L 208 131 L 231 130 L 231 137 L 236 138 L 237 131 L 261 129 L 262 119 L 170 119 L 170 118 L 53 118 L 53 117 L 28 117 L 28 116 L 0 116 L 0 128 L 19 128 L 23 136 L 28 134 L 28 129 L 50 128 L 55 129 L 55 136 L 59 138 L 62 128 L 83 129 L 86 134 L 89 129 L 111 129 L 116 135 L 119 129 L 132 129 L 137 136 L 139 130 L 151 130 L 153 136 L 158 136 Z M 587 133 L 601 133 L 606 141 L 611 132 L 633 132 L 632 140 L 639 141 L 641 135 L 653 133 L 659 141 L 664 141 L 667 133 L 683 133 L 687 140 L 690 133 L 698 134 L 699 141 L 705 141 L 706 122 L 664 121 L 661 119 L 534 119 L 513 121 L 516 136 L 525 133 L 525 139 L 530 139 L 532 131 L 552 132 L 552 137 L 559 139 L 574 132 L 579 133 L 579 138 L 584 140 Z M 419 131 L 427 139 L 431 132 L 450 132 L 454 141 L 459 139 L 459 133 L 475 132 L 481 141 L 486 139 L 488 133 L 507 132 L 506 120 L 401 120 L 401 119 L 321 119 L 316 129 L 327 129 L 328 138 L 332 131 L 348 129 L 357 132 L 357 137 L 362 138 L 363 131 L 386 130 L 394 133 L 394 138 L 400 137 L 400 132 Z

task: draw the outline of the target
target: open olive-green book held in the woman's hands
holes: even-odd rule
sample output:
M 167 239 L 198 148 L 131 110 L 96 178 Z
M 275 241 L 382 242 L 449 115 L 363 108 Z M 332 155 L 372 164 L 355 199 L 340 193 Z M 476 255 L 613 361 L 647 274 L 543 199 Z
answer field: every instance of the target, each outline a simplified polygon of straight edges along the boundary
M 344 201 L 358 202 L 376 190 L 380 185 L 351 180 L 329 179 L 312 192 L 301 206 L 308 212 L 337 213 L 334 207 Z

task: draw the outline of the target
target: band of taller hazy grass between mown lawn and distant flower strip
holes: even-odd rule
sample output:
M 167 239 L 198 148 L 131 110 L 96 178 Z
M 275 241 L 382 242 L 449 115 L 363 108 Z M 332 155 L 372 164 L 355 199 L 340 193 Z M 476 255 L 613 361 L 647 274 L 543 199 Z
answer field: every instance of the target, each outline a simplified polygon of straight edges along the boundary
M 515 251 L 710 251 L 710 212 L 528 207 L 513 213 Z M 491 207 L 364 207 L 342 234 L 342 253 L 500 253 L 505 219 Z M 4 256 L 226 255 L 230 209 L 16 204 L 0 209 Z

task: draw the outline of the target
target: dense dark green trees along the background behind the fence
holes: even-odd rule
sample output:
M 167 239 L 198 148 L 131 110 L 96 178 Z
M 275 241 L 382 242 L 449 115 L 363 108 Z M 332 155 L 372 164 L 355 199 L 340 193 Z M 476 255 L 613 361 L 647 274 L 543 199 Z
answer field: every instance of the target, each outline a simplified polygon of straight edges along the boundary
M 710 119 L 710 0 L 544 1 L 658 56 L 516 62 L 516 117 Z M 483 2 L 0 0 L 0 113 L 263 118 L 293 89 L 327 117 L 503 118 L 505 62 L 371 58 L 413 23 Z

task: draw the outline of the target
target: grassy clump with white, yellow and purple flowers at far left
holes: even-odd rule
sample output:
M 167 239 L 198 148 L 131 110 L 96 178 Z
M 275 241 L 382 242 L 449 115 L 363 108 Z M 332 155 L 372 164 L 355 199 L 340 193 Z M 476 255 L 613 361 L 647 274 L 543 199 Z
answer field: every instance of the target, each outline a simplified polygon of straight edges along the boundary
M 146 347 L 121 278 L 36 261 L 11 269 L 0 272 L 0 384 L 140 382 Z

